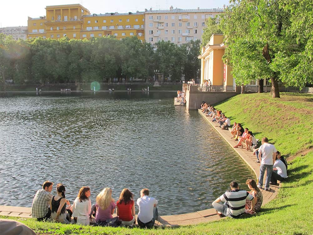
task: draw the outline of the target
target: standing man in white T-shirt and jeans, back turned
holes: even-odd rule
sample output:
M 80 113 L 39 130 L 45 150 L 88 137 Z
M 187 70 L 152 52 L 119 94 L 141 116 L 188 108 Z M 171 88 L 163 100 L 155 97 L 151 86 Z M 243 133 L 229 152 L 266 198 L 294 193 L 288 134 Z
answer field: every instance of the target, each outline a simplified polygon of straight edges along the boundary
M 266 169 L 266 180 L 265 180 L 265 190 L 269 191 L 269 181 L 271 180 L 271 175 L 273 171 L 273 164 L 276 159 L 275 146 L 273 144 L 269 144 L 268 138 L 262 138 L 262 145 L 259 148 L 259 159 L 261 159 L 260 165 L 260 176 L 259 176 L 259 184 L 258 187 L 262 189 L 263 186 L 263 178 Z M 261 158 L 262 156 L 262 158 Z

